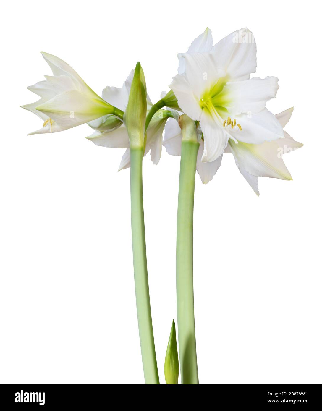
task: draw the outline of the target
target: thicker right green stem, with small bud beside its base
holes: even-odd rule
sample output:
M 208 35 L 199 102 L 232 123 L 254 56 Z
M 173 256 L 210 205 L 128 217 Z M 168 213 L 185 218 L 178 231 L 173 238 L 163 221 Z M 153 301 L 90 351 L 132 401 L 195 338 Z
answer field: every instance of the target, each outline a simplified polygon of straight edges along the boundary
M 192 227 L 199 143 L 182 141 L 177 218 L 177 314 L 182 384 L 198 384 L 193 305 Z

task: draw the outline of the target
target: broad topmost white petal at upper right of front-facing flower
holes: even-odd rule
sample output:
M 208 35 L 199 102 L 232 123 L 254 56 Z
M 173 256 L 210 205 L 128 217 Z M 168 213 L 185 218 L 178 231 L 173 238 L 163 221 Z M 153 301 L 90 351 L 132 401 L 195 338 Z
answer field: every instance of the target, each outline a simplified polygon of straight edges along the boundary
M 236 30 L 213 46 L 217 67 L 231 80 L 249 79 L 256 71 L 256 43 L 248 28 Z

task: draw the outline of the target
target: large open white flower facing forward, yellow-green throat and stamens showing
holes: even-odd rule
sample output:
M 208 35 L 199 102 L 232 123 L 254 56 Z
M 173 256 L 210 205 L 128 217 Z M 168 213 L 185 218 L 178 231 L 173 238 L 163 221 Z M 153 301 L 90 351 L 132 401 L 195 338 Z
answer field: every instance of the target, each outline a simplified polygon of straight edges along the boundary
M 178 106 L 199 121 L 203 136 L 202 162 L 213 162 L 228 140 L 260 144 L 283 137 L 283 129 L 266 108 L 276 96 L 278 79 L 250 79 L 256 70 L 256 43 L 246 28 L 212 47 L 210 30 L 178 55 L 179 74 L 170 88 Z

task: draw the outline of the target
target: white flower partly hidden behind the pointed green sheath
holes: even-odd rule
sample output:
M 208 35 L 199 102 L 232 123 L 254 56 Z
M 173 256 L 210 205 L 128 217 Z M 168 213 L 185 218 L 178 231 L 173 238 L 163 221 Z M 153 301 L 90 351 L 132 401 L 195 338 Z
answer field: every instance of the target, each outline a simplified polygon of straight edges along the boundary
M 118 109 L 125 111 L 129 99 L 130 88 L 133 80 L 134 70 L 132 70 L 121 88 L 105 87 L 102 91 L 102 98 Z M 147 96 L 147 111 L 152 103 Z M 151 151 L 153 164 L 158 164 L 162 151 L 162 133 L 167 122 L 169 111 L 158 110 L 148 125 L 146 131 L 146 146 L 144 155 Z M 130 140 L 127 129 L 122 121 L 115 115 L 106 115 L 97 120 L 88 122 L 88 125 L 95 129 L 95 132 L 86 139 L 93 141 L 96 145 L 109 148 L 126 148 L 120 162 L 119 171 L 130 167 Z

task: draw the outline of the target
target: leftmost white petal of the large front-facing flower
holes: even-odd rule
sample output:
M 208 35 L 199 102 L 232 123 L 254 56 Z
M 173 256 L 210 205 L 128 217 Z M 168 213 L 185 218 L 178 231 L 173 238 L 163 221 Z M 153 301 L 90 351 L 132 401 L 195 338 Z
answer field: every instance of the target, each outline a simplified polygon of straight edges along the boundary
M 185 75 L 177 74 L 169 87 L 178 99 L 179 107 L 181 107 L 192 120 L 200 120 L 202 109 Z

